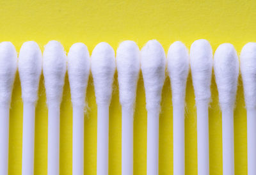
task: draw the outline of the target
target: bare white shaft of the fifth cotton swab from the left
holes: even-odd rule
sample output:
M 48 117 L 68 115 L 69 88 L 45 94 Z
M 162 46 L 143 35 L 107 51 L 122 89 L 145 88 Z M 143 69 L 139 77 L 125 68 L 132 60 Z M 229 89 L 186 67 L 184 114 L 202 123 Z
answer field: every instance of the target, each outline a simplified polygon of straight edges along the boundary
M 98 105 L 97 174 L 108 174 L 109 105 Z

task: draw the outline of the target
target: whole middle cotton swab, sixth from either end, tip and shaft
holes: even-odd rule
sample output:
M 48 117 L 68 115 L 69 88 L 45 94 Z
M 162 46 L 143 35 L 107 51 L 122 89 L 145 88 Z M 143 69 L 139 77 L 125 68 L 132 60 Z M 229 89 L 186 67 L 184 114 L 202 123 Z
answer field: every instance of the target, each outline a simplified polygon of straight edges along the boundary
M 122 175 L 133 174 L 133 113 L 140 73 L 140 49 L 122 42 L 116 50 L 119 96 L 122 105 Z

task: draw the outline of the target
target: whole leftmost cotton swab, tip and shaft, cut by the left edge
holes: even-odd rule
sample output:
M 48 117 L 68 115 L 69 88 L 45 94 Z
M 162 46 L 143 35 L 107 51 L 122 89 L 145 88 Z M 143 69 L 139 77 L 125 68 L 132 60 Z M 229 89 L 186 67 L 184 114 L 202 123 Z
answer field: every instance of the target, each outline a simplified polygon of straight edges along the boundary
M 17 52 L 10 42 L 0 43 L 0 174 L 8 174 L 9 114 Z

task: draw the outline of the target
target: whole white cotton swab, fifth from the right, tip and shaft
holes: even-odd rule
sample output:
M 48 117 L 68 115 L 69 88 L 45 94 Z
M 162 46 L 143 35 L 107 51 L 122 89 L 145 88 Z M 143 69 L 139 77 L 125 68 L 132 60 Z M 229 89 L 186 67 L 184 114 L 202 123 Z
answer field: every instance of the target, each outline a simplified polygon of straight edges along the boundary
M 158 174 L 159 111 L 166 58 L 162 45 L 150 40 L 141 49 L 141 71 L 147 107 L 147 175 Z

